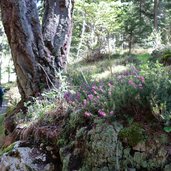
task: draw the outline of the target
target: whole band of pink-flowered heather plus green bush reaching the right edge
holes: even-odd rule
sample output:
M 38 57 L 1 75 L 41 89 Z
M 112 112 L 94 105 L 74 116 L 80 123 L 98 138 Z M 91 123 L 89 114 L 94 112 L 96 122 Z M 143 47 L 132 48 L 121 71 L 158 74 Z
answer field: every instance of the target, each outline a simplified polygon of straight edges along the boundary
M 81 84 L 66 101 L 86 117 L 153 115 L 170 123 L 171 74 L 162 66 L 130 66 L 113 78 Z M 139 118 L 141 119 L 141 117 Z M 169 121 L 168 121 L 169 120 Z

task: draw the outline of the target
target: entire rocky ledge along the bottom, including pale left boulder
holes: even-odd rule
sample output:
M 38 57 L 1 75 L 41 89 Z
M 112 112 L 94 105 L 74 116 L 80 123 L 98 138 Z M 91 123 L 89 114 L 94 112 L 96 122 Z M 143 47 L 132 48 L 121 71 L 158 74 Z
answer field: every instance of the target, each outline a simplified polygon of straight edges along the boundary
M 47 131 L 47 136 L 39 132 L 36 133 L 39 137 L 32 136 L 32 141 L 37 140 L 36 145 L 16 142 L 4 150 L 0 170 L 171 170 L 171 144 L 167 133 L 148 133 L 136 122 L 125 125 L 113 118 L 87 118 L 79 113 L 58 116 L 55 122 L 58 133 L 53 133 L 51 141 Z M 35 131 L 40 128 L 39 125 Z

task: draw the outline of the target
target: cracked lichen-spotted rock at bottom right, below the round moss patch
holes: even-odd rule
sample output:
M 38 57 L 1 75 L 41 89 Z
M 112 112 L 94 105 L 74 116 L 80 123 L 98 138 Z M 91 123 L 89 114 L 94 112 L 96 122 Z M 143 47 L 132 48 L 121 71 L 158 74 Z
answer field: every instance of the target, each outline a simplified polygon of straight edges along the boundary
M 153 148 L 150 153 L 149 148 Z M 148 144 L 146 151 L 134 151 L 132 148 L 125 148 L 123 151 L 123 159 L 121 161 L 122 169 L 133 167 L 136 169 L 161 170 L 164 169 L 168 160 L 167 151 L 163 147 L 156 148 Z

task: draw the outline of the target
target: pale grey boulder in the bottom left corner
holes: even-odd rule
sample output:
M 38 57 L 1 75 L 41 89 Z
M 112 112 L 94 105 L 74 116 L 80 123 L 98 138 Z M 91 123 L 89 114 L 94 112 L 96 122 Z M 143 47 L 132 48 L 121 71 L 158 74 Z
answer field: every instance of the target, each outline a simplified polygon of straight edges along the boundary
M 8 147 L 1 157 L 1 171 L 55 171 L 54 164 L 47 162 L 45 153 L 24 146 L 24 143 L 18 141 Z

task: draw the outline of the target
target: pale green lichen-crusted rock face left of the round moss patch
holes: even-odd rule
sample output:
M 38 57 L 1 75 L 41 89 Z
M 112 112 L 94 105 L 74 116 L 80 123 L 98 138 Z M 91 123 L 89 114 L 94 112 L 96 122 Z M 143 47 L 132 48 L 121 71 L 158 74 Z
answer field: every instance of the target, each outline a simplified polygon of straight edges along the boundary
M 88 132 L 85 159 L 81 170 L 119 170 L 123 147 L 118 140 L 122 126 L 114 122 L 97 124 Z M 98 155 L 97 155 L 98 154 Z

